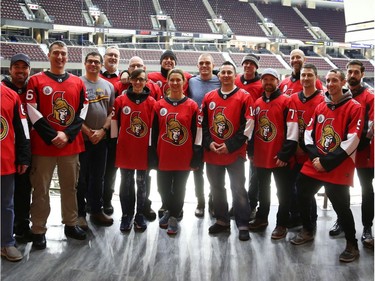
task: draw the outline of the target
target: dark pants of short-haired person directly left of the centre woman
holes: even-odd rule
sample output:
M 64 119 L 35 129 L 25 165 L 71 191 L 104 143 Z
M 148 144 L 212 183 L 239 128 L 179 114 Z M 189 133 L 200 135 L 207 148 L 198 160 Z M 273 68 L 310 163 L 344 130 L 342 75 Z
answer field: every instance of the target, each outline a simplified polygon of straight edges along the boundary
M 120 202 L 122 209 L 122 216 L 134 215 L 135 207 L 135 170 L 120 169 L 121 184 L 120 184 Z M 148 173 L 145 170 L 137 170 L 137 213 L 142 213 L 147 195 L 147 177 Z

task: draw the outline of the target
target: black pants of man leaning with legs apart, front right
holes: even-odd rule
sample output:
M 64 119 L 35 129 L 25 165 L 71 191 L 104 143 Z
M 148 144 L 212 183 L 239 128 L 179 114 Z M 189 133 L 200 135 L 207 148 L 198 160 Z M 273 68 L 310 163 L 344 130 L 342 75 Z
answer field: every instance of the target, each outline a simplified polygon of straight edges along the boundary
M 310 214 L 311 202 L 312 198 L 323 185 L 333 209 L 340 218 L 346 240 L 351 242 L 356 241 L 354 218 L 350 210 L 349 186 L 323 182 L 300 174 L 297 180 L 297 190 L 303 227 L 307 231 L 314 231 L 316 228 L 316 219 L 314 220 Z

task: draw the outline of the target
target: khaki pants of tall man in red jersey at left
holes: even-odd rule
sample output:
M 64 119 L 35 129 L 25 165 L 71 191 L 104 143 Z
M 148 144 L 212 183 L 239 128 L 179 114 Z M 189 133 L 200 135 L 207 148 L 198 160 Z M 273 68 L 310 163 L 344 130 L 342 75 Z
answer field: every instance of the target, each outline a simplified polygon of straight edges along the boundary
M 51 210 L 49 188 L 56 165 L 60 183 L 62 223 L 69 226 L 77 224 L 78 154 L 58 157 L 33 155 L 30 172 L 33 188 L 30 215 L 31 231 L 35 234 L 47 231 L 46 224 Z

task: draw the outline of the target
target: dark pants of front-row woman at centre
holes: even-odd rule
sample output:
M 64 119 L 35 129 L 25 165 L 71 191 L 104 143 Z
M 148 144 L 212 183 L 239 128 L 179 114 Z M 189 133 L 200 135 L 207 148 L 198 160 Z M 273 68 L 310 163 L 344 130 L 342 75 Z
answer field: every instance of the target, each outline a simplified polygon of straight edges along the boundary
M 170 216 L 177 218 L 185 200 L 186 182 L 190 171 L 160 171 L 157 182 L 162 203 Z

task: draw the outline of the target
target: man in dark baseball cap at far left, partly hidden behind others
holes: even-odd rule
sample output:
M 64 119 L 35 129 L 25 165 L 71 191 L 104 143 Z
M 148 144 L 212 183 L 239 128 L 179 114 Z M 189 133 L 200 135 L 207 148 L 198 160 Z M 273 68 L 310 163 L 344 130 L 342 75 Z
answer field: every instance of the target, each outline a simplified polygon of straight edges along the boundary
M 26 103 L 26 86 L 30 75 L 30 58 L 26 54 L 16 54 L 10 59 L 9 76 L 1 81 L 3 85 L 15 91 Z M 14 235 L 18 243 L 31 241 L 30 231 L 30 168 L 26 173 L 15 174 L 14 190 Z

